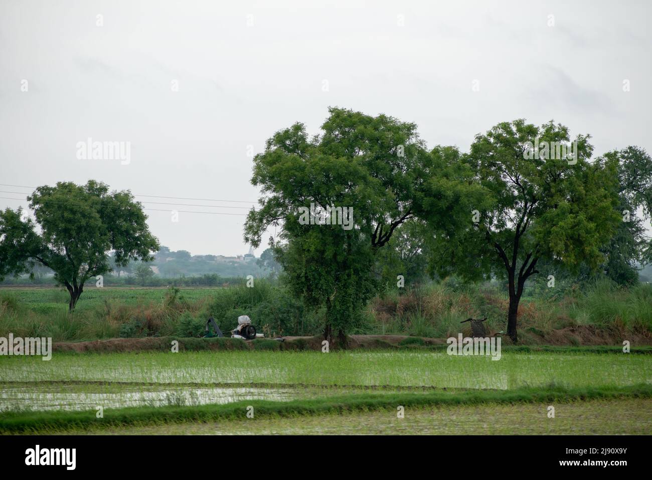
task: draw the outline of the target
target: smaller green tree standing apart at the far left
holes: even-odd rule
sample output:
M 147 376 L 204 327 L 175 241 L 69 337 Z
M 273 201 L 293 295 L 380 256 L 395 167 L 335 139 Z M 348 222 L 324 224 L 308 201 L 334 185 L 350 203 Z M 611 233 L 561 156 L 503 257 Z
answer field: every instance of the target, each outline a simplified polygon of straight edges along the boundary
M 38 187 L 27 197 L 34 218 L 22 210 L 0 212 L 0 279 L 31 274 L 37 263 L 55 272 L 74 310 L 84 283 L 132 260 L 151 260 L 158 240 L 149 232 L 141 204 L 129 191 L 109 191 L 90 180 Z M 109 252 L 113 251 L 110 259 Z

